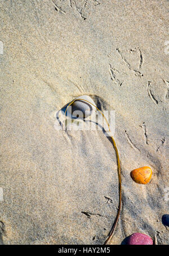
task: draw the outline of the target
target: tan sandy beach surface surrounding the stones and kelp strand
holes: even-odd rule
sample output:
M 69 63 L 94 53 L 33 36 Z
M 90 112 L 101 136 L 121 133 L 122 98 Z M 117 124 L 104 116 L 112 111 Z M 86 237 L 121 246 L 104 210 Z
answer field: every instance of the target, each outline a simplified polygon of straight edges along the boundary
M 113 244 L 134 232 L 169 244 L 169 1 L 0 0 L 0 10 L 0 244 L 104 244 L 118 206 L 112 144 L 100 130 L 55 127 L 81 95 L 115 111 Z M 153 170 L 146 185 L 130 177 L 142 166 Z

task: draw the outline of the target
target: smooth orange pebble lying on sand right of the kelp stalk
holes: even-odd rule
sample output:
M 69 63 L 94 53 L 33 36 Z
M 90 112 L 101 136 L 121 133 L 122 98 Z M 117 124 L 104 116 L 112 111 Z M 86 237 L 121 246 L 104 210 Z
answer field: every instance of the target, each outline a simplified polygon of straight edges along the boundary
M 136 183 L 147 184 L 152 178 L 152 169 L 149 166 L 144 166 L 131 171 L 130 175 Z

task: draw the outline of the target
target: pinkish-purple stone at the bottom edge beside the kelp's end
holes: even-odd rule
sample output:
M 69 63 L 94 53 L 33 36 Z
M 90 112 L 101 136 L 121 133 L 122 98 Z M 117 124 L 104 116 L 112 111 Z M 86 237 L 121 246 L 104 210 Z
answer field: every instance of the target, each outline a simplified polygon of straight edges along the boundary
M 128 245 L 153 245 L 153 240 L 148 235 L 133 233 L 127 239 Z

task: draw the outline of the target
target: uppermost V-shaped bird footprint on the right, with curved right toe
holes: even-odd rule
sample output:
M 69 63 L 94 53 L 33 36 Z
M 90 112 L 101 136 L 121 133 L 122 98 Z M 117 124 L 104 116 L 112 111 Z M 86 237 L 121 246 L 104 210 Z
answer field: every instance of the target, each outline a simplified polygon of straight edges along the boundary
M 118 54 L 121 56 L 122 60 L 124 61 L 124 63 L 126 64 L 127 68 L 132 70 L 135 73 L 135 76 L 139 76 L 139 77 L 143 77 L 143 73 L 141 73 L 138 69 L 140 69 L 143 65 L 143 54 L 140 50 L 140 48 L 135 48 L 135 49 L 131 49 L 130 52 L 136 52 L 139 51 L 139 56 L 140 56 L 140 63 L 139 63 L 139 68 L 132 68 L 131 64 L 127 61 L 126 57 L 123 55 L 122 51 L 117 48 L 116 49 Z

